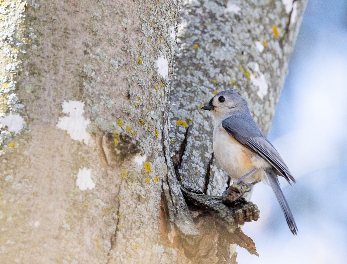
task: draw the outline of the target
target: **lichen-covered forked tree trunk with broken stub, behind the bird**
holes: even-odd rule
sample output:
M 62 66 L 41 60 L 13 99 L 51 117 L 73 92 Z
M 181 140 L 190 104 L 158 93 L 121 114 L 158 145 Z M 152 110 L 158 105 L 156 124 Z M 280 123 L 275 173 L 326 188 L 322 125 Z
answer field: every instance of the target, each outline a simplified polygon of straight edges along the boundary
M 198 110 L 214 90 L 238 86 L 270 127 L 304 2 L 256 5 L 184 3 L 174 77 L 179 1 L 0 2 L 3 263 L 256 253 L 237 227 L 256 206 L 198 192 L 226 186 Z

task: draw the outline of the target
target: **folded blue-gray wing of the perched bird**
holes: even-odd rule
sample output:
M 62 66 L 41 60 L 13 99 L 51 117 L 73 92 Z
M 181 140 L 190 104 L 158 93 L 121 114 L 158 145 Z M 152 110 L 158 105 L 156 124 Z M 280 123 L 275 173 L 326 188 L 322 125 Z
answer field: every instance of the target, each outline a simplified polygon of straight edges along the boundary
M 238 142 L 268 161 L 277 175 L 285 177 L 289 183 L 290 180 L 295 183 L 287 165 L 254 123 L 250 114 L 230 116 L 223 120 L 222 126 Z

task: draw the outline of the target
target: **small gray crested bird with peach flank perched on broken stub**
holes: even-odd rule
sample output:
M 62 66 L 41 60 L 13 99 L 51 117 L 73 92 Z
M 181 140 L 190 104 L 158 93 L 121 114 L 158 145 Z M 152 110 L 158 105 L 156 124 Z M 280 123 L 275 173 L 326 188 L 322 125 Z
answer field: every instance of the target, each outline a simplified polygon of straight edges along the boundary
M 248 104 L 236 89 L 221 91 L 208 105 L 214 120 L 213 151 L 221 167 L 234 180 L 268 183 L 285 214 L 290 231 L 297 227 L 281 191 L 277 175 L 295 183 L 287 165 L 255 124 Z M 252 186 L 252 184 L 250 184 Z

